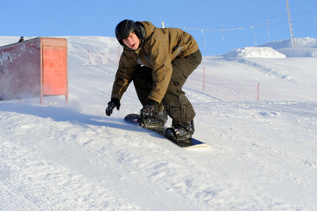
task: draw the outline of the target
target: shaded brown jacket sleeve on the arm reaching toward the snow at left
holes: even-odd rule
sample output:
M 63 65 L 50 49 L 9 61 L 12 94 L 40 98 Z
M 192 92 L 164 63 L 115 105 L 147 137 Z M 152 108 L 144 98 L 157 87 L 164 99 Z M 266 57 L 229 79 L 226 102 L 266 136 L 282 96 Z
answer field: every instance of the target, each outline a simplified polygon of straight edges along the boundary
M 124 51 L 119 60 L 119 67 L 115 74 L 115 82 L 112 86 L 111 98 L 119 98 L 119 100 L 122 98 L 122 95 L 128 89 L 132 81 L 134 71 L 141 66 L 128 54 L 129 53 L 125 53 Z

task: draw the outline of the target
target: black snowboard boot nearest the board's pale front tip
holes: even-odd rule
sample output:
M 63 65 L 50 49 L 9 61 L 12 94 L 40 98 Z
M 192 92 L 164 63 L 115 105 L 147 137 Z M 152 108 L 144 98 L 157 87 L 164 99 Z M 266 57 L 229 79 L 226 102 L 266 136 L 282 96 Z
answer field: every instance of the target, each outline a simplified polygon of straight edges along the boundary
M 194 134 L 194 120 L 189 122 L 179 123 L 175 126 L 169 127 L 165 130 L 165 136 L 167 139 L 174 141 L 179 146 L 191 146 L 193 141 L 191 136 Z

